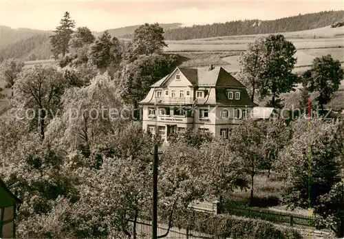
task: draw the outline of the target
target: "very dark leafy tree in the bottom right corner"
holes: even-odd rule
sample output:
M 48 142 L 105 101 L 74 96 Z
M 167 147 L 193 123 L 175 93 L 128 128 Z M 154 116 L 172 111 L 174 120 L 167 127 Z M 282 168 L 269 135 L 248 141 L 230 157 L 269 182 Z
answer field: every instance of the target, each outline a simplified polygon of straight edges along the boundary
M 344 178 L 332 186 L 331 191 L 319 199 L 314 213 L 321 217 L 321 223 L 336 233 L 337 238 L 344 237 Z

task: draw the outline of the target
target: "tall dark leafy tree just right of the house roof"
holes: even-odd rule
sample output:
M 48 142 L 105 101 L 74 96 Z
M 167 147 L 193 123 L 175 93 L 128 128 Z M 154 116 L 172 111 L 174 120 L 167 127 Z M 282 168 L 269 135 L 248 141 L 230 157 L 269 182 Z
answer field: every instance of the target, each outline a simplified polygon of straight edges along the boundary
M 266 38 L 266 54 L 264 56 L 264 71 L 261 72 L 261 96 L 271 95 L 269 103 L 272 107 L 281 107 L 279 94 L 294 90 L 298 77 L 292 74 L 297 59 L 294 45 L 281 34 L 270 35 Z

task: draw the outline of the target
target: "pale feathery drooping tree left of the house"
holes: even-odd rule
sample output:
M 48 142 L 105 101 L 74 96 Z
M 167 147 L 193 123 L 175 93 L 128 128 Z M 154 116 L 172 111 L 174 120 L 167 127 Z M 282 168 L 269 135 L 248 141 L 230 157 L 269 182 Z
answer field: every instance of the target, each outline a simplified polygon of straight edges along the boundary
M 63 111 L 50 123 L 47 137 L 72 150 L 83 149 L 87 157 L 94 144 L 104 142 L 109 132 L 114 134 L 116 122 L 125 117 L 120 114 L 116 85 L 106 73 L 96 76 L 87 87 L 69 88 L 61 99 Z

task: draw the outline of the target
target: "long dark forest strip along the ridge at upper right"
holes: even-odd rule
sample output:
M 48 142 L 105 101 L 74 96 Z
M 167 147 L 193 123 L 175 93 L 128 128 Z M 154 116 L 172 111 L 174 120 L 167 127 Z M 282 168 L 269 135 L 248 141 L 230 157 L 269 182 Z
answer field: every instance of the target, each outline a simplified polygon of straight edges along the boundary
M 344 11 L 327 11 L 310 14 L 299 14 L 271 21 L 245 20 L 214 23 L 211 25 L 193 25 L 186 28 L 166 30 L 166 40 L 200 39 L 246 34 L 266 34 L 277 32 L 295 32 L 323 28 L 344 19 Z M 127 36 L 129 37 L 129 36 Z

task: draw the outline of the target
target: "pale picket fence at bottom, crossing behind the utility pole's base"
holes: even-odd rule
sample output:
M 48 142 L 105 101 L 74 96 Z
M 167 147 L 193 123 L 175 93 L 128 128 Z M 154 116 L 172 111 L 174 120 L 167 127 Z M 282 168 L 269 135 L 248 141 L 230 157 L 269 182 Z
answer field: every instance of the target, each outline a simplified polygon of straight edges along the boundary
M 133 225 L 133 221 L 129 220 L 131 225 Z M 158 224 L 158 236 L 166 233 L 167 229 L 169 228 L 168 225 L 159 223 Z M 138 234 L 138 238 L 151 238 L 151 221 L 138 219 L 136 222 L 136 232 Z M 166 236 L 169 239 L 226 239 L 215 237 L 208 233 L 202 233 L 200 231 L 193 231 L 189 229 L 180 229 L 178 227 L 171 227 L 169 234 Z

